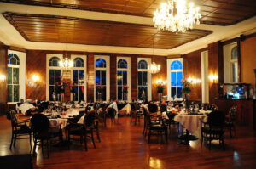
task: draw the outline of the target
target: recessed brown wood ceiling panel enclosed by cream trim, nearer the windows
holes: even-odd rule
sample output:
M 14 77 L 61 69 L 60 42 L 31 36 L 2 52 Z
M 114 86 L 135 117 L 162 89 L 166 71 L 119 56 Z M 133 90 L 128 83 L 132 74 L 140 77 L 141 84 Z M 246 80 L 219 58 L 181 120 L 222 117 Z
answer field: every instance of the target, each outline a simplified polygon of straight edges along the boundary
M 185 33 L 158 31 L 153 25 L 86 20 L 55 15 L 3 13 L 16 30 L 32 42 L 63 42 L 86 45 L 171 49 L 212 31 Z

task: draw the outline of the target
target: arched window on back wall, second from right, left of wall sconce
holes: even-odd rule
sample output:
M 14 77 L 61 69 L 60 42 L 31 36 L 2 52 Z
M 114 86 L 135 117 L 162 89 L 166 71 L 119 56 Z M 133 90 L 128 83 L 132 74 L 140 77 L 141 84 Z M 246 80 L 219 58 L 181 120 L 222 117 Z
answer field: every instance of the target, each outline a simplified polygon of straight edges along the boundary
M 137 64 L 137 98 L 140 100 L 151 100 L 151 73 L 148 70 L 150 58 L 138 58 Z

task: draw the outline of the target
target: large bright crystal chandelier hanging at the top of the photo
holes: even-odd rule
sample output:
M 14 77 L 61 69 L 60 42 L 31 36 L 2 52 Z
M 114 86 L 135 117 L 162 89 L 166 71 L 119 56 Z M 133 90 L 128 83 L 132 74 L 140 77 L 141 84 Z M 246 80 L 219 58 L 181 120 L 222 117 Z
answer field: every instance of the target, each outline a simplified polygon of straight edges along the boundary
M 194 8 L 194 3 L 186 6 L 185 0 L 168 0 L 168 3 L 162 3 L 160 11 L 154 12 L 154 27 L 158 30 L 167 30 L 172 32 L 185 32 L 193 29 L 193 25 L 199 25 L 199 7 Z

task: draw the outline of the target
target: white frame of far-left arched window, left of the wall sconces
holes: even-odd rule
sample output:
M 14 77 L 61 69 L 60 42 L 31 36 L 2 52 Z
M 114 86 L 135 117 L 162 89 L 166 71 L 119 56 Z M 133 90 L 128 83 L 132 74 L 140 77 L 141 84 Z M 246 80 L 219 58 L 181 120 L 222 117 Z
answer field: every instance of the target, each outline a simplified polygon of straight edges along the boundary
M 20 59 L 20 65 L 7 65 L 7 67 L 19 68 L 19 101 L 7 102 L 7 104 L 17 104 L 20 102 L 21 99 L 26 100 L 26 53 L 15 50 L 8 50 L 7 55 L 9 54 L 16 54 L 17 57 Z

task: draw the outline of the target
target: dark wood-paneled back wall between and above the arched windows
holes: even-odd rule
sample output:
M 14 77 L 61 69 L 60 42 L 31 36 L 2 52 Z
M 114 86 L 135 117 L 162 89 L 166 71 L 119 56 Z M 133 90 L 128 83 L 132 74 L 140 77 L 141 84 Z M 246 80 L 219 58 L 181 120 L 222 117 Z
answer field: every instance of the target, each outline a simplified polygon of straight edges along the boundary
M 26 52 L 26 99 L 46 99 L 46 54 L 63 54 L 60 51 L 27 50 Z M 139 54 L 98 54 L 86 52 L 69 52 L 68 54 L 87 55 L 87 101 L 94 101 L 94 56 L 110 56 L 110 99 L 116 99 L 116 58 L 131 57 L 131 99 L 137 99 L 137 58 L 151 58 L 152 62 L 161 65 L 160 73 L 152 75 L 152 99 L 158 100 L 155 81 L 166 81 L 166 57 Z M 40 77 L 39 82 L 32 82 L 32 75 Z M 167 86 L 166 86 L 167 87 Z M 164 95 L 167 93 L 167 88 Z

